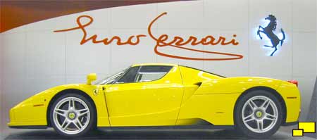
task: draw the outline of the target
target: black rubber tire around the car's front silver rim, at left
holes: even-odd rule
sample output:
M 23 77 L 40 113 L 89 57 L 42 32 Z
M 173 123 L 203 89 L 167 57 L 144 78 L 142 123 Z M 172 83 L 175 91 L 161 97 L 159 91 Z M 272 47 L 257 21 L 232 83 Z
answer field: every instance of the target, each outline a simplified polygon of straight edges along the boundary
M 89 110 L 89 117 L 90 118 L 89 118 L 89 122 L 86 122 L 86 123 L 88 123 L 88 125 L 86 125 L 85 129 L 83 129 L 81 132 L 79 132 L 77 134 L 67 134 L 65 132 L 62 132 L 60 129 L 58 129 L 58 126 L 54 122 L 54 108 L 56 107 L 58 102 L 60 102 L 64 98 L 68 98 L 68 97 L 80 98 L 80 100 L 82 100 L 83 102 L 86 103 L 88 110 Z M 76 105 L 76 103 L 75 103 L 75 105 Z M 78 104 L 77 104 L 77 106 L 78 106 Z M 54 103 L 51 106 L 50 111 L 49 111 L 49 120 L 51 122 L 51 126 L 55 129 L 56 132 L 58 132 L 58 134 L 61 134 L 62 136 L 68 136 L 68 137 L 77 137 L 77 136 L 83 136 L 83 135 L 87 134 L 88 132 L 91 132 L 91 130 L 96 127 L 96 119 L 95 119 L 96 114 L 97 113 L 95 111 L 93 103 L 89 99 L 87 99 L 84 96 L 81 96 L 79 94 L 65 94 L 63 96 L 58 97 L 56 99 L 56 101 L 54 101 Z M 88 116 L 88 113 L 87 113 L 87 116 Z

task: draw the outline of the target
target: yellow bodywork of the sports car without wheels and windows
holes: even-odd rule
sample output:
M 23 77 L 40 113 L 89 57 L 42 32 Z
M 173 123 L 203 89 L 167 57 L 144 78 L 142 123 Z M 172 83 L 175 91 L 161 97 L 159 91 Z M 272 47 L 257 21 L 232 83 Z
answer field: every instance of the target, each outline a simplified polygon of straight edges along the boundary
M 300 94 L 295 84 L 263 77 L 221 77 L 173 64 L 161 79 L 123 84 L 66 84 L 19 103 L 10 111 L 8 126 L 48 125 L 49 103 L 69 89 L 89 96 L 97 110 L 97 127 L 195 125 L 201 120 L 213 125 L 234 125 L 235 103 L 248 89 L 266 87 L 277 91 L 286 108 L 285 122 L 295 122 L 300 113 Z

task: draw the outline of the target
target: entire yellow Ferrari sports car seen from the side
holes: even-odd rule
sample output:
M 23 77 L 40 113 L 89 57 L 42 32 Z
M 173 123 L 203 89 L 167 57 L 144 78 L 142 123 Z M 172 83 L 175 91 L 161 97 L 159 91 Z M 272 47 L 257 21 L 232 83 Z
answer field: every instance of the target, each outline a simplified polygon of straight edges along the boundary
M 92 129 L 237 129 L 267 137 L 294 125 L 297 81 L 223 77 L 182 65 L 147 63 L 95 82 L 66 84 L 36 94 L 10 111 L 11 128 L 54 127 L 64 136 Z

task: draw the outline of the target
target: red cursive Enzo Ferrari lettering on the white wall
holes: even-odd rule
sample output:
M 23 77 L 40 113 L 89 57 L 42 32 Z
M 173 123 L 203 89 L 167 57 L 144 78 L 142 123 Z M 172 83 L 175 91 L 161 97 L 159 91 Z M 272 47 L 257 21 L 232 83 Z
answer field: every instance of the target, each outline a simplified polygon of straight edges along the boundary
M 154 39 L 154 41 L 156 41 L 156 46 L 154 47 L 154 52 L 160 56 L 166 56 L 166 57 L 170 57 L 170 58 L 178 58 L 178 59 L 185 59 L 185 60 L 193 60 L 193 61 L 227 61 L 227 60 L 235 60 L 235 59 L 241 59 L 243 58 L 242 55 L 239 54 L 233 54 L 233 53 L 222 53 L 222 52 L 216 52 L 216 51 L 203 51 L 203 50 L 198 50 L 198 49 L 190 49 L 185 47 L 186 45 L 190 44 L 192 46 L 197 46 L 197 45 L 210 45 L 210 46 L 214 46 L 214 45 L 238 45 L 239 42 L 237 42 L 235 40 L 235 37 L 237 37 L 237 34 L 233 34 L 232 37 L 233 39 L 230 39 L 230 41 L 227 41 L 227 39 L 225 37 L 218 37 L 218 39 L 216 39 L 215 37 L 211 36 L 211 35 L 207 35 L 206 37 L 202 37 L 201 39 L 197 39 L 197 37 L 194 36 L 189 36 L 187 39 L 184 39 L 182 37 L 179 36 L 175 36 L 173 37 L 173 39 L 171 41 L 168 41 L 168 39 L 170 38 L 168 36 L 168 34 L 161 34 L 159 37 L 154 37 L 154 35 L 151 32 L 151 27 L 152 25 L 156 22 L 156 20 L 158 20 L 159 18 L 161 18 L 163 15 L 166 15 L 167 13 L 161 13 L 161 15 L 157 16 L 156 18 L 154 18 L 154 20 L 151 21 L 151 23 L 149 24 L 147 30 L 149 33 L 149 36 L 151 37 L 151 39 Z M 81 23 L 80 20 L 82 19 L 87 19 L 88 22 L 87 23 Z M 90 37 L 87 37 L 87 30 L 86 27 L 88 27 L 89 25 L 91 25 L 93 23 L 94 19 L 89 16 L 89 15 L 80 15 L 76 22 L 77 22 L 77 27 L 72 27 L 69 29 L 65 29 L 65 30 L 55 30 L 54 32 L 68 32 L 68 31 L 72 31 L 72 30 L 82 30 L 82 39 L 80 41 L 80 44 L 85 44 L 89 41 L 91 41 L 93 44 L 99 44 L 99 43 L 103 43 L 104 45 L 108 45 L 111 44 L 112 42 L 114 42 L 116 40 L 116 44 L 118 45 L 126 45 L 126 44 L 130 44 L 130 45 L 137 45 L 140 42 L 140 38 L 141 37 L 147 37 L 147 35 L 145 34 L 137 34 L 137 35 L 132 35 L 130 37 L 128 37 L 128 39 L 126 41 L 123 41 L 123 39 L 121 39 L 118 36 L 113 36 L 111 38 L 104 38 L 101 40 L 98 40 L 98 36 L 97 34 L 94 34 Z M 132 40 L 136 39 L 135 42 L 133 42 Z M 177 49 L 185 49 L 188 51 L 196 51 L 196 52 L 201 52 L 201 53 L 213 53 L 213 54 L 218 54 L 218 55 L 224 55 L 224 56 L 228 56 L 227 58 L 192 58 L 192 57 L 187 57 L 187 56 L 175 56 L 175 55 L 171 55 L 168 53 L 162 53 L 158 50 L 158 47 L 166 47 L 166 46 L 170 46 L 170 47 L 175 47 Z

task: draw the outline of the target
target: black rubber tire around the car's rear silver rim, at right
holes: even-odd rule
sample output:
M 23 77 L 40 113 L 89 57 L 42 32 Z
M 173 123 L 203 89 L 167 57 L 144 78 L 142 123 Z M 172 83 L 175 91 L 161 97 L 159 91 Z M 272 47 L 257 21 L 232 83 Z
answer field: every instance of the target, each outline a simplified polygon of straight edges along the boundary
M 247 125 L 244 124 L 244 121 L 242 120 L 242 109 L 244 107 L 244 103 L 247 103 L 247 101 L 250 98 L 255 97 L 255 96 L 265 96 L 267 98 L 270 98 L 271 101 L 273 101 L 273 103 L 275 103 L 275 106 L 277 107 L 278 113 L 276 113 L 276 114 L 278 115 L 278 119 L 276 119 L 275 125 L 272 125 L 272 127 L 270 127 L 271 129 L 268 129 L 267 132 L 254 132 L 251 129 L 249 129 L 247 127 Z M 256 103 L 256 105 L 257 105 L 257 103 Z M 247 106 L 249 106 L 249 105 L 247 105 Z M 274 96 L 273 93 L 266 91 L 266 90 L 249 91 L 249 93 L 242 95 L 242 97 L 236 103 L 235 113 L 234 113 L 235 114 L 235 128 L 250 138 L 256 138 L 256 139 L 268 138 L 268 137 L 272 136 L 273 134 L 275 134 L 275 132 L 277 132 L 278 129 L 280 128 L 280 125 L 282 124 L 282 120 L 284 117 L 283 113 L 282 113 L 283 111 L 284 110 L 282 110 L 282 105 L 281 105 L 280 101 L 278 100 L 278 98 L 276 96 Z M 256 113 L 255 113 L 256 111 L 252 110 L 251 112 L 252 112 L 251 114 L 254 114 L 254 118 L 260 119 L 259 116 L 256 116 Z M 254 121 L 255 121 L 254 123 L 257 123 L 256 120 L 254 120 Z M 252 123 L 252 122 L 250 121 L 248 123 Z

